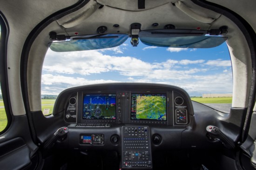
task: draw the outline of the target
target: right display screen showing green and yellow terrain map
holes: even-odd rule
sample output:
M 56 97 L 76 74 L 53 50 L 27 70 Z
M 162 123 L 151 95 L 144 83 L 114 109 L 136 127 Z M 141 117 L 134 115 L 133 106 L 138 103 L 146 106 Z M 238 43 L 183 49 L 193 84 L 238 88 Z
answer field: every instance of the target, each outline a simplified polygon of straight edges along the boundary
M 166 94 L 131 94 L 132 120 L 166 121 Z

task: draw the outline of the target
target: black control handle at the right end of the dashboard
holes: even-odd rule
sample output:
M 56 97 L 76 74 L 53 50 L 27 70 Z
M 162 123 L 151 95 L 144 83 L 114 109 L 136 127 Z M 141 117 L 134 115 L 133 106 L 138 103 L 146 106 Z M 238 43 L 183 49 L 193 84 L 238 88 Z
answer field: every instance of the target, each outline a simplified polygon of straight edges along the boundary
M 234 149 L 236 147 L 235 143 L 229 139 L 218 127 L 209 125 L 206 127 L 206 131 L 209 133 L 210 136 L 219 139 L 222 144 L 229 149 Z

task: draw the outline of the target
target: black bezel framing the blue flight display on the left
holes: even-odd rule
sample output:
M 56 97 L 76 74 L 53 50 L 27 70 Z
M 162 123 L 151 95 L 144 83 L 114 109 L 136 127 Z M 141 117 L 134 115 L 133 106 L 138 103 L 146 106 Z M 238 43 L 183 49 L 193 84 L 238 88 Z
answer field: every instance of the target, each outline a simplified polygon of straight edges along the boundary
M 83 118 L 83 115 L 84 115 L 84 113 L 83 113 L 83 111 L 84 111 L 84 98 L 87 96 L 87 95 L 95 95 L 95 96 L 101 96 L 101 95 L 115 95 L 115 117 L 114 118 Z M 83 93 L 83 95 L 82 95 L 82 114 L 81 114 L 81 120 L 82 121 L 97 121 L 97 120 L 116 120 L 116 117 L 117 117 L 117 115 L 116 115 L 116 93 L 115 92 L 113 92 L 113 93 L 111 93 L 111 92 L 109 92 L 109 93 Z

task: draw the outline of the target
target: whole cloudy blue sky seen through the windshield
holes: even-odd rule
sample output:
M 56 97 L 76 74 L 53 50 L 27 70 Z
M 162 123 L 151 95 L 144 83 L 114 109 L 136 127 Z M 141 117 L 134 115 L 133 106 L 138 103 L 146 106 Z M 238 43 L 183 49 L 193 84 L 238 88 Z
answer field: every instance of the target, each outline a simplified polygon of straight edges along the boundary
M 130 44 L 81 52 L 47 52 L 42 94 L 68 87 L 110 82 L 176 85 L 190 96 L 232 93 L 232 68 L 227 45 L 207 49 L 165 48 Z

